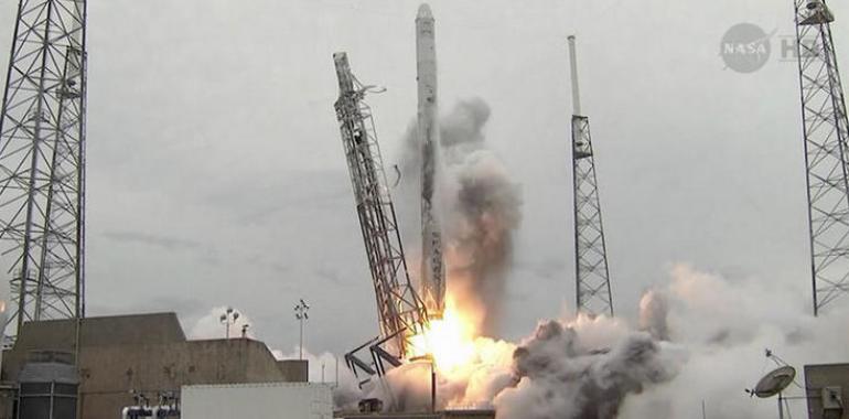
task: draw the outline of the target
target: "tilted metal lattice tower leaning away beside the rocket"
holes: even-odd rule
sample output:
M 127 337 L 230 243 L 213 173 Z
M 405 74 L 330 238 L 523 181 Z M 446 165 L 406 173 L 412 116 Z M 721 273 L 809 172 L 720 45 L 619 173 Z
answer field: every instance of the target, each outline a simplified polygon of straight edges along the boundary
M 333 60 L 340 86 L 336 119 L 374 280 L 380 333 L 393 342 L 393 355 L 402 358 L 409 336 L 423 331 L 427 311 L 407 272 L 372 110 L 363 101 L 368 87 L 351 74 L 345 53 L 334 54 Z

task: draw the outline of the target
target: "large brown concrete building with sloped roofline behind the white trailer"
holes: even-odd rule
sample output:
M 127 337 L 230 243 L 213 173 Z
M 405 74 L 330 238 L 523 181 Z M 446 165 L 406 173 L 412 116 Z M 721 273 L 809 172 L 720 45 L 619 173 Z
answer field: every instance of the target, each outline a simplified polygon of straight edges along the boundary
M 3 352 L 0 379 L 12 388 L 33 353 L 74 354 L 74 320 L 24 323 Z M 79 324 L 79 411 L 86 419 L 115 419 L 144 395 L 180 394 L 184 385 L 307 382 L 305 361 L 277 361 L 250 339 L 186 340 L 176 314 L 87 318 Z M 0 397 L 0 419 L 14 397 Z M 6 415 L 6 416 L 4 416 Z

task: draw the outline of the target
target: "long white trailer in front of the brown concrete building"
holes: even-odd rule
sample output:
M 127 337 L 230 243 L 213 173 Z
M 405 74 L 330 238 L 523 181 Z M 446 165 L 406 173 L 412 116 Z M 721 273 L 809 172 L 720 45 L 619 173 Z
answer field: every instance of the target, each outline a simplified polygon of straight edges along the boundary
M 331 388 L 312 383 L 183 386 L 182 419 L 332 419 Z

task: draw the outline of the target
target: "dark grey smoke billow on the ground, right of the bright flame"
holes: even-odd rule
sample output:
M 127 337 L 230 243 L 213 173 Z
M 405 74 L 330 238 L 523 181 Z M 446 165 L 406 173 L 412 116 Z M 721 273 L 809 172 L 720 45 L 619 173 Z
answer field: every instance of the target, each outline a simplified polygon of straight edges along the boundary
M 627 395 L 676 374 L 675 359 L 647 333 L 625 333 L 610 348 L 581 347 L 580 340 L 560 322 L 537 326 L 514 354 L 520 380 L 494 400 L 498 417 L 615 418 Z

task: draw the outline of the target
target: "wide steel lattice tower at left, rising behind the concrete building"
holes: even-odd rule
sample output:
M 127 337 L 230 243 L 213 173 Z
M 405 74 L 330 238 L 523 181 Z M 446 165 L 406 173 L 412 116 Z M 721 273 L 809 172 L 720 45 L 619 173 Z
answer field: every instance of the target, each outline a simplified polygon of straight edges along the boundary
M 85 313 L 85 23 L 86 0 L 19 3 L 0 116 L 0 264 L 17 330 Z

